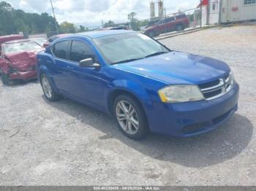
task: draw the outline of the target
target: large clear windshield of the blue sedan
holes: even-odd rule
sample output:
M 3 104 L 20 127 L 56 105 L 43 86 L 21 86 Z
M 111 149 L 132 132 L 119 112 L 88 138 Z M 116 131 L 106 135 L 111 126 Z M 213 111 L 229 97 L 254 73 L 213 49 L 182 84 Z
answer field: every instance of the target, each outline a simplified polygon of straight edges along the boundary
M 108 64 L 124 63 L 169 52 L 158 42 L 140 33 L 117 34 L 94 39 Z

